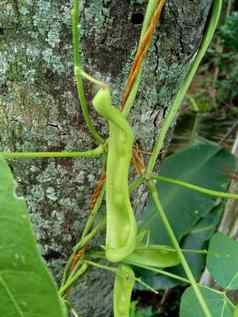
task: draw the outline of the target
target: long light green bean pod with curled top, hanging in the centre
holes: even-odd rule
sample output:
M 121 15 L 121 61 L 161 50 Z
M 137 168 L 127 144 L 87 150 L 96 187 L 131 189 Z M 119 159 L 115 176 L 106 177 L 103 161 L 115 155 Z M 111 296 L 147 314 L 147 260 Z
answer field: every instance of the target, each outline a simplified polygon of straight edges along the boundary
M 112 106 L 109 88 L 102 88 L 93 99 L 96 111 L 109 122 L 106 170 L 106 257 L 118 262 L 136 246 L 137 224 L 131 207 L 128 171 L 134 136 L 123 114 Z

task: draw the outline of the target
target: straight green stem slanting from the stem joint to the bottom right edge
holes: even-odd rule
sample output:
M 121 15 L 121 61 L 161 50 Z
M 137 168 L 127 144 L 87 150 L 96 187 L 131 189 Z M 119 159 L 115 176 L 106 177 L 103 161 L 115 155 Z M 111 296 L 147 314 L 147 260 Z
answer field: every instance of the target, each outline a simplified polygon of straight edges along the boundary
M 166 213 L 165 213 L 165 211 L 164 211 L 164 209 L 163 209 L 163 207 L 162 207 L 162 205 L 160 203 L 160 199 L 159 199 L 159 195 L 158 195 L 156 186 L 155 186 L 153 181 L 149 181 L 147 185 L 148 185 L 148 189 L 149 189 L 149 191 L 151 193 L 151 196 L 152 196 L 152 198 L 154 200 L 154 203 L 155 203 L 155 206 L 157 208 L 157 211 L 158 211 L 158 213 L 160 215 L 160 218 L 161 218 L 162 222 L 164 223 L 164 226 L 165 226 L 165 228 L 167 230 L 169 238 L 170 238 L 174 248 L 176 249 L 176 251 L 178 253 L 178 256 L 180 258 L 180 261 L 181 261 L 181 264 L 182 264 L 183 269 L 185 271 L 185 274 L 187 275 L 187 278 L 190 281 L 190 284 L 191 284 L 191 286 L 192 286 L 192 288 L 194 290 L 194 293 L 195 293 L 195 295 L 196 295 L 196 297 L 197 297 L 197 299 L 198 299 L 198 301 L 199 301 L 199 303 L 201 305 L 201 308 L 202 308 L 202 310 L 204 312 L 204 315 L 206 317 L 212 317 L 211 312 L 210 312 L 210 310 L 209 310 L 209 308 L 207 306 L 207 303 L 206 303 L 206 301 L 204 300 L 204 298 L 202 296 L 202 293 L 201 293 L 201 291 L 200 291 L 200 289 L 198 287 L 198 284 L 197 284 L 197 282 L 196 282 L 196 280 L 195 280 L 195 278 L 193 276 L 193 273 L 192 273 L 192 271 L 191 271 L 191 269 L 190 269 L 190 267 L 189 267 L 189 265 L 187 263 L 187 260 L 186 260 L 186 258 L 184 256 L 180 246 L 179 246 L 179 243 L 178 243 L 178 241 L 177 241 L 177 239 L 176 239 L 176 237 L 174 235 L 173 229 L 172 229 L 172 227 L 171 227 L 171 225 L 170 225 L 170 223 L 168 221 Z

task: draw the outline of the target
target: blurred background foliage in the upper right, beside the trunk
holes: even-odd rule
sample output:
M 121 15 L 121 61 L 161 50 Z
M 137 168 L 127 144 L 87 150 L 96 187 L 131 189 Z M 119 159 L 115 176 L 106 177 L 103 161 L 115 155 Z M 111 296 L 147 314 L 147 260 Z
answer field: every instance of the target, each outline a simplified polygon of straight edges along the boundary
M 238 2 L 225 1 L 212 45 L 184 100 L 170 150 L 197 135 L 230 148 L 238 129 Z

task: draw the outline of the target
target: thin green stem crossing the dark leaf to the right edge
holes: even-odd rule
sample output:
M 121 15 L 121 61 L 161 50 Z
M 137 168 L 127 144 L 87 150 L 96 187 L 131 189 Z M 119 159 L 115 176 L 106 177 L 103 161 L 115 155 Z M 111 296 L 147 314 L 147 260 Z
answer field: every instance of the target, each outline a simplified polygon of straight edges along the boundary
M 169 178 L 169 177 L 165 177 L 165 176 L 152 176 L 152 179 L 155 179 L 155 180 L 158 180 L 158 181 L 161 181 L 164 183 L 179 185 L 179 186 L 194 190 L 196 192 L 199 192 L 199 193 L 202 193 L 202 194 L 205 194 L 208 196 L 238 200 L 237 194 L 219 192 L 219 191 L 208 189 L 205 187 L 193 185 L 191 183 L 187 183 L 187 182 L 181 181 L 179 179 Z

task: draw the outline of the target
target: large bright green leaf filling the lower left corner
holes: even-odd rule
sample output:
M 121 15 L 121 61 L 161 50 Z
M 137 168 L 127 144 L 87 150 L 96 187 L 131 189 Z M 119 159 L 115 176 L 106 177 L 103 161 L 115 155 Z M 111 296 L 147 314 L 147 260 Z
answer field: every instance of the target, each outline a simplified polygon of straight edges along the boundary
M 37 248 L 26 203 L 0 158 L 0 316 L 66 317 Z

